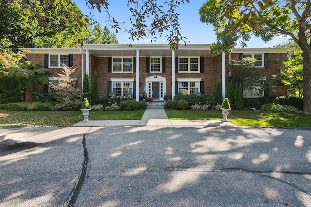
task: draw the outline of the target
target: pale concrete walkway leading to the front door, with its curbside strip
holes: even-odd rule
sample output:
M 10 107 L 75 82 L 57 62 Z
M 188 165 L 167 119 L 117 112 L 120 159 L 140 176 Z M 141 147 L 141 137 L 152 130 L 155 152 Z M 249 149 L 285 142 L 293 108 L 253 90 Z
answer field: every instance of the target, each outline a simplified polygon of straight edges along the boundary
M 220 112 L 221 113 L 221 112 Z M 90 120 L 78 122 L 73 126 L 170 126 L 170 125 L 199 125 L 199 126 L 236 126 L 220 120 L 169 120 L 163 103 L 147 103 L 147 109 L 141 120 Z

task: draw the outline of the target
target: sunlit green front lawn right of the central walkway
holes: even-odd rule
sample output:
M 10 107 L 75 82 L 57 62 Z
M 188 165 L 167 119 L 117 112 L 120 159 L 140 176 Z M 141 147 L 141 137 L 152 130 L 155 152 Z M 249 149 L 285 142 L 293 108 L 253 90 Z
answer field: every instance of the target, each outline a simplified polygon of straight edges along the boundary
M 170 120 L 221 120 L 221 111 L 165 110 Z M 311 115 L 302 112 L 232 110 L 228 119 L 238 126 L 311 127 Z

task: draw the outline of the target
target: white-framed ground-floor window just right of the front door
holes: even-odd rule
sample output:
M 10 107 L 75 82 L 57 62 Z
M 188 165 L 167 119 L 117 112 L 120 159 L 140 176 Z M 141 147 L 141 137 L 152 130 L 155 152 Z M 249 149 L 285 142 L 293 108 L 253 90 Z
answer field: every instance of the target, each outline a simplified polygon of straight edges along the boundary
M 178 93 L 182 94 L 197 94 L 200 92 L 201 79 L 177 79 Z

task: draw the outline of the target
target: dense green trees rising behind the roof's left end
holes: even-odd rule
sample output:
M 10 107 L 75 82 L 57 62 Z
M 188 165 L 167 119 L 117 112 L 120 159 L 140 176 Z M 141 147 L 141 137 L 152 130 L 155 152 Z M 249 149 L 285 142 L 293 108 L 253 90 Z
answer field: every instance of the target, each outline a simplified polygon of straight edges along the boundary
M 9 53 L 17 48 L 76 48 L 89 21 L 71 0 L 1 0 L 0 15 L 0 51 Z

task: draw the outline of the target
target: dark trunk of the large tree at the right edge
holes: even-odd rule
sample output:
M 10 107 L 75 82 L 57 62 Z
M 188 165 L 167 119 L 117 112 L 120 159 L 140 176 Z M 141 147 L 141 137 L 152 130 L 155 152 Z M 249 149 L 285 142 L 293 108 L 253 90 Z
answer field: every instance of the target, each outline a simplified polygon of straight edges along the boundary
M 303 54 L 303 112 L 311 114 L 311 48 L 302 48 Z

